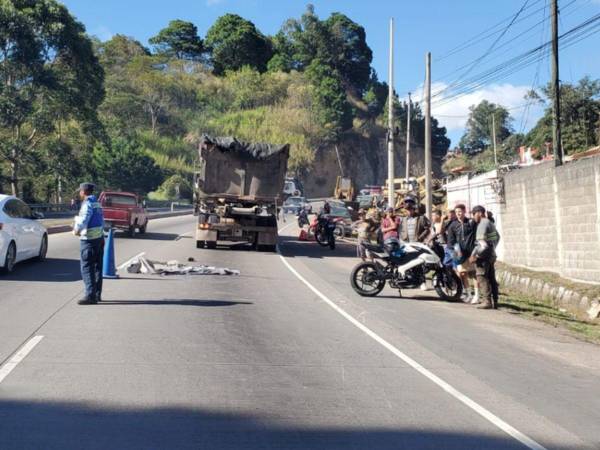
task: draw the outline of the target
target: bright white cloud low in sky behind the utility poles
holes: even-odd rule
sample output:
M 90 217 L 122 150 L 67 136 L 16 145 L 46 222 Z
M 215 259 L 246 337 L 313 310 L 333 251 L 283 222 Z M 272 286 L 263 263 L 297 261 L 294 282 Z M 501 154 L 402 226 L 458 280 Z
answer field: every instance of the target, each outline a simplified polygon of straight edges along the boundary
M 598 0 L 600 1 L 600 0 Z M 433 95 L 447 87 L 446 83 L 434 83 L 431 87 Z M 531 105 L 529 111 L 525 107 L 527 101 L 525 95 L 531 89 L 531 85 L 513 85 L 510 83 L 493 84 L 486 86 L 480 90 L 455 98 L 445 103 L 435 97 L 432 99 L 431 113 L 438 119 L 442 126 L 448 129 L 449 133 L 456 134 L 465 129 L 469 116 L 469 107 L 479 104 L 482 100 L 496 103 L 509 109 L 511 116 L 514 119 L 513 127 L 515 131 L 525 131 L 535 125 L 537 120 L 543 113 L 543 108 L 538 105 Z M 423 87 L 419 86 L 413 96 L 414 101 L 420 102 Z M 436 100 L 438 100 L 436 102 Z M 437 104 L 436 104 L 437 103 Z M 523 123 L 523 125 L 522 125 Z

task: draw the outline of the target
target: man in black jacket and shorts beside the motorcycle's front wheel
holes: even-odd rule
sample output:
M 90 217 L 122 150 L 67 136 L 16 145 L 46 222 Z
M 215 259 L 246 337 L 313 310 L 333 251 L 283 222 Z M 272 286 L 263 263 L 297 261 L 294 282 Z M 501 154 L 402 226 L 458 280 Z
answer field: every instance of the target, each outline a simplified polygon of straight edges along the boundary
M 475 246 L 475 231 L 477 226 L 466 214 L 465 205 L 456 205 L 454 212 L 456 220 L 448 226 L 448 248 L 455 253 L 456 272 L 463 282 L 463 301 L 479 302 L 477 288 L 472 294 L 469 286 L 469 276 L 475 272 L 475 266 L 469 262 L 469 257 Z

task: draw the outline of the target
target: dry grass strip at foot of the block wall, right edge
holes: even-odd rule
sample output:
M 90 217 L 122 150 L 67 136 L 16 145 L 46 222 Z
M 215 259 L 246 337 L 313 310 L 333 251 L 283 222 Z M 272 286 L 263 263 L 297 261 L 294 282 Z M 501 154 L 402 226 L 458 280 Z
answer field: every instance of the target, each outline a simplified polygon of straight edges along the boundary
M 506 289 L 505 289 L 506 291 Z M 600 324 L 579 320 L 568 311 L 523 294 L 503 292 L 500 294 L 500 309 L 508 310 L 556 328 L 569 331 L 574 337 L 586 342 L 600 344 Z

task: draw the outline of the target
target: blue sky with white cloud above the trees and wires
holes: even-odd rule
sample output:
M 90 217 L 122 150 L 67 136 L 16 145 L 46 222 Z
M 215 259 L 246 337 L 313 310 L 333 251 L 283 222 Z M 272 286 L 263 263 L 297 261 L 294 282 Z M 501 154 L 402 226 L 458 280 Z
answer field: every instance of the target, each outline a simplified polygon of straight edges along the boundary
M 346 14 L 365 28 L 373 50 L 373 67 L 380 80 L 388 80 L 389 19 L 394 18 L 394 88 L 400 97 L 412 92 L 418 101 L 425 76 L 425 54 L 432 53 L 433 114 L 448 129 L 452 145 L 464 132 L 469 107 L 487 99 L 510 109 L 515 131 L 527 131 L 543 114 L 524 95 L 550 79 L 550 61 L 511 71 L 473 92 L 443 100 L 441 92 L 458 81 L 488 69 L 502 67 L 510 58 L 550 39 L 549 0 L 63 0 L 90 34 L 102 40 L 125 34 L 147 45 L 148 39 L 170 20 L 193 22 L 204 37 L 221 15 L 239 14 L 268 35 L 288 18 L 299 18 L 307 3 L 322 19 L 332 12 Z M 600 0 L 559 0 L 559 33 L 600 14 Z M 519 10 L 522 12 L 517 16 Z M 512 19 L 514 23 L 506 30 Z M 600 25 L 600 22 L 596 23 Z M 597 28 L 600 31 L 600 28 Z M 495 41 L 498 41 L 495 43 Z M 463 48 L 463 44 L 467 44 Z M 461 47 L 462 46 L 462 47 Z M 458 48 L 459 51 L 454 51 Z M 492 52 L 487 54 L 492 49 Z M 561 80 L 577 82 L 583 76 L 600 78 L 600 33 L 560 52 Z M 449 54 L 451 53 L 451 54 Z M 440 93 L 441 92 L 441 93 Z

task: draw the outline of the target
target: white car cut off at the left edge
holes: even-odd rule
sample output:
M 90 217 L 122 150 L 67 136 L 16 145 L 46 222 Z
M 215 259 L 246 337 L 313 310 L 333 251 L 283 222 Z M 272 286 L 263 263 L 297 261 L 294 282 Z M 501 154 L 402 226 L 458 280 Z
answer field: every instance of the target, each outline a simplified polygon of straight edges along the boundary
M 30 258 L 46 259 L 48 232 L 31 208 L 16 197 L 0 194 L 0 271 Z

